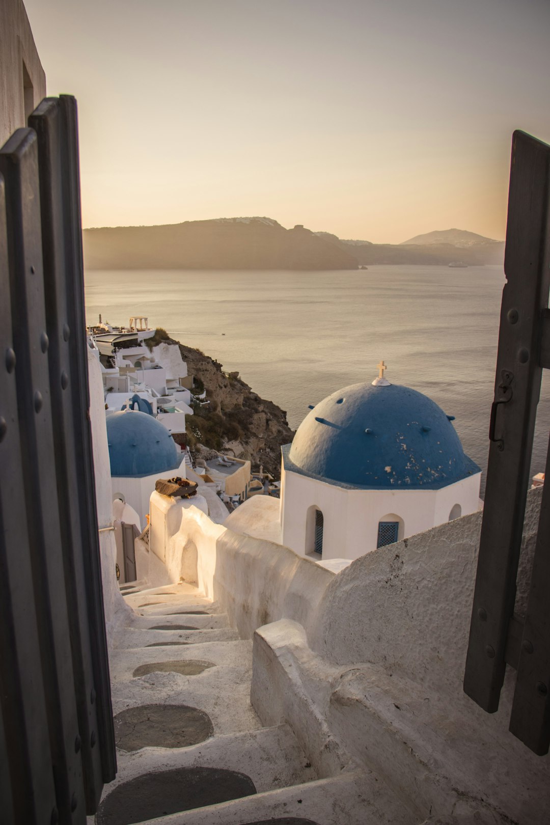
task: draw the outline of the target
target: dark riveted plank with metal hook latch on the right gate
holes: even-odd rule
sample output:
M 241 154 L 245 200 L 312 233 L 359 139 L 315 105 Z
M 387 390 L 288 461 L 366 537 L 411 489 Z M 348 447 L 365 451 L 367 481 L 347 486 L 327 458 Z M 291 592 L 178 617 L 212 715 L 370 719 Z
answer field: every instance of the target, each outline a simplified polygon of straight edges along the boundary
M 487 492 L 477 562 L 464 691 L 498 708 L 505 645 L 529 486 L 542 369 L 539 347 L 548 308 L 550 148 L 524 132 L 512 139 L 505 275 L 496 362 Z

